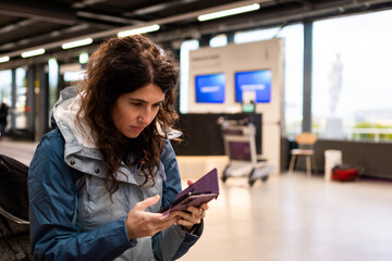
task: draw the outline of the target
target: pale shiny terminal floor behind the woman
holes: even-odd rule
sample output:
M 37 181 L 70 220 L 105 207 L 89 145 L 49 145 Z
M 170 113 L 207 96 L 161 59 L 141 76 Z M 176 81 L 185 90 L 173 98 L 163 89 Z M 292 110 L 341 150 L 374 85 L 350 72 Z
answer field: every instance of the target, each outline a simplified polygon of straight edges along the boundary
M 35 146 L 0 140 L 0 153 L 28 163 Z M 225 163 L 179 157 L 184 184 Z M 207 214 L 203 237 L 181 260 L 392 260 L 392 182 L 324 182 L 297 172 L 249 187 L 245 178 L 229 178 Z

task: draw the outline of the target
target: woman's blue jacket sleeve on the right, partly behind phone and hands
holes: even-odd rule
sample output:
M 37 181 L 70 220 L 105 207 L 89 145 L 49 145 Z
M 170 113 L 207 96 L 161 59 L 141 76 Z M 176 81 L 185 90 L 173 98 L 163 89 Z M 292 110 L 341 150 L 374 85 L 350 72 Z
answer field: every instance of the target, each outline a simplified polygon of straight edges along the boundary
M 163 183 L 162 206 L 167 206 L 175 199 L 181 189 L 181 177 L 174 150 L 169 140 L 166 140 L 161 156 L 164 166 L 166 182 Z M 186 233 L 180 225 L 158 233 L 152 238 L 154 253 L 157 260 L 175 260 L 184 256 L 198 240 L 203 233 L 203 222 L 195 226 L 192 234 Z M 170 239 L 169 239 L 170 238 Z

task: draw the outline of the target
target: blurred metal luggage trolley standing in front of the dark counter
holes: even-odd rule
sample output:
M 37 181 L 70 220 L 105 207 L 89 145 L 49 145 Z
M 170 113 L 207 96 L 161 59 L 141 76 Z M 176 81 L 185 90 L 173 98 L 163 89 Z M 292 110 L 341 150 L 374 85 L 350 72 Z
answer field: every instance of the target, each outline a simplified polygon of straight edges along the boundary
M 269 173 L 275 167 L 267 160 L 257 159 L 256 127 L 248 119 L 235 121 L 220 117 L 224 152 L 229 157 L 229 164 L 221 177 L 224 183 L 229 177 L 248 177 L 249 186 L 260 178 L 267 182 Z

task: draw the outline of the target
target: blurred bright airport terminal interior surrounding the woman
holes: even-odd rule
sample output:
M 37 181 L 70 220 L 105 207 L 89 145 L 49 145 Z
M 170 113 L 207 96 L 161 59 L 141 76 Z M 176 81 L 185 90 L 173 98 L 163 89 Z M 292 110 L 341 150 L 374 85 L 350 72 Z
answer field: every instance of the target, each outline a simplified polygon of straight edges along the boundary
M 28 166 L 90 54 L 146 34 L 180 65 L 183 188 L 219 176 L 180 260 L 391 260 L 392 1 L 0 0 L 0 156 Z M 0 261 L 32 260 L 28 221 L 1 203 Z

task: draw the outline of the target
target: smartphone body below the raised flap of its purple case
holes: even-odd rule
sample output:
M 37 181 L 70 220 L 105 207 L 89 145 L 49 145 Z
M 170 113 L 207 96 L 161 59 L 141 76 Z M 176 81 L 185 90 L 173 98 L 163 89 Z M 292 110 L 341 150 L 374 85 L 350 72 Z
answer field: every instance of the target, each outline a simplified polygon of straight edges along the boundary
M 200 207 L 203 203 L 208 203 L 212 199 L 218 198 L 218 194 L 211 191 L 205 192 L 187 192 L 162 208 L 159 213 L 169 214 L 173 211 L 186 211 L 188 206 Z

